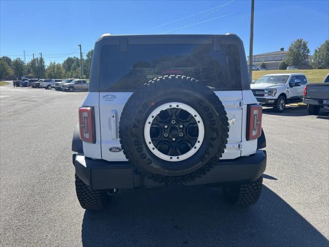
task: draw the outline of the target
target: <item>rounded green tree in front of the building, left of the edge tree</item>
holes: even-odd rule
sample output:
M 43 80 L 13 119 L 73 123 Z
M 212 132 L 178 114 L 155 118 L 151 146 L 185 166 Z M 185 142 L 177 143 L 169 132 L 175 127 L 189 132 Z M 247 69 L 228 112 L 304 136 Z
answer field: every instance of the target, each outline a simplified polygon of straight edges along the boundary
M 288 65 L 294 66 L 300 66 L 304 64 L 309 54 L 307 43 L 308 42 L 303 39 L 297 39 L 291 43 L 287 51 L 285 62 Z

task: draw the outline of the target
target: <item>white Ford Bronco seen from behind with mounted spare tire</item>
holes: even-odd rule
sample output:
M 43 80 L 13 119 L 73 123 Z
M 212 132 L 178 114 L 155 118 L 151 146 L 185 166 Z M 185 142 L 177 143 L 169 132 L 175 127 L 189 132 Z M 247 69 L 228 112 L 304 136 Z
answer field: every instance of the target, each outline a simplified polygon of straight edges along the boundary
M 254 204 L 261 122 L 235 34 L 104 34 L 72 140 L 78 200 L 101 209 L 118 189 L 207 184 L 231 204 Z

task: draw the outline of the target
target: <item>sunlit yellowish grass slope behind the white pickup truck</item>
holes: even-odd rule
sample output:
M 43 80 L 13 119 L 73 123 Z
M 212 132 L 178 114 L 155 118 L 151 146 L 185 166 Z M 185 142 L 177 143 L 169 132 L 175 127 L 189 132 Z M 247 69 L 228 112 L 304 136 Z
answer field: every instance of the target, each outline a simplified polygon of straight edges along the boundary
M 257 81 L 267 74 L 289 74 L 301 73 L 305 74 L 308 82 L 322 82 L 324 77 L 329 73 L 329 69 L 296 69 L 296 70 L 254 70 L 252 79 Z

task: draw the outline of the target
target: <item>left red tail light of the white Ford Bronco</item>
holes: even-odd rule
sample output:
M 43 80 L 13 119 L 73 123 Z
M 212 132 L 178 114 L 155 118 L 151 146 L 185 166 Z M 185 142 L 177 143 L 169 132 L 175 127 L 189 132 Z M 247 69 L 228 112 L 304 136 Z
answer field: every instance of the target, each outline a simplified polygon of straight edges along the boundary
M 95 114 L 94 107 L 79 108 L 80 139 L 86 143 L 95 143 Z

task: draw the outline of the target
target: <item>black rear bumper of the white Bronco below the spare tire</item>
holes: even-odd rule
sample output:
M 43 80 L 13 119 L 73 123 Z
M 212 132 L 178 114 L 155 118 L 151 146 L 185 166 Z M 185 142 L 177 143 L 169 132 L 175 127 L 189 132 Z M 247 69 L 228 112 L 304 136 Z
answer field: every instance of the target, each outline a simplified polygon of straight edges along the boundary
M 142 177 L 128 162 L 92 160 L 82 153 L 74 154 L 72 158 L 76 174 L 93 190 L 163 185 Z M 185 185 L 252 183 L 261 177 L 265 168 L 266 151 L 257 150 L 250 156 L 221 160 L 206 175 Z

